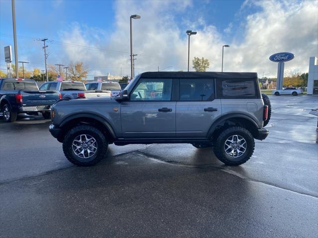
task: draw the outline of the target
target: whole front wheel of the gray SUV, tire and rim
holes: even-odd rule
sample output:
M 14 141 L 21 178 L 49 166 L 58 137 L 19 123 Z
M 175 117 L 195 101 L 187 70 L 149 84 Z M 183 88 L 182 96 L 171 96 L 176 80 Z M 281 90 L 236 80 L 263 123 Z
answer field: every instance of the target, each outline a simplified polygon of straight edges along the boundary
M 95 127 L 78 125 L 72 128 L 63 140 L 66 158 L 78 166 L 92 166 L 106 155 L 108 143 Z

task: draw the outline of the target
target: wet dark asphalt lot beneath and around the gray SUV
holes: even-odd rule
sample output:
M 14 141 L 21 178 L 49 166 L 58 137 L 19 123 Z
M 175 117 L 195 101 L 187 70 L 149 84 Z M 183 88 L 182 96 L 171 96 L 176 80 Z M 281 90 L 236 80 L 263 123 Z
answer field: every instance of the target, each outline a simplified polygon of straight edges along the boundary
M 0 119 L 0 237 L 317 238 L 318 97 L 270 99 L 270 134 L 238 167 L 189 144 L 75 167 L 48 120 Z

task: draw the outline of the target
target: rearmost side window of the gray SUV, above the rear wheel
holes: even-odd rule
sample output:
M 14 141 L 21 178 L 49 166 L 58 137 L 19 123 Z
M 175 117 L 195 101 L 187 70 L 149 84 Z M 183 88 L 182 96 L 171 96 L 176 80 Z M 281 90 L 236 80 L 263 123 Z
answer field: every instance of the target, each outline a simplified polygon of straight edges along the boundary
M 218 79 L 218 97 L 255 98 L 256 86 L 252 79 Z

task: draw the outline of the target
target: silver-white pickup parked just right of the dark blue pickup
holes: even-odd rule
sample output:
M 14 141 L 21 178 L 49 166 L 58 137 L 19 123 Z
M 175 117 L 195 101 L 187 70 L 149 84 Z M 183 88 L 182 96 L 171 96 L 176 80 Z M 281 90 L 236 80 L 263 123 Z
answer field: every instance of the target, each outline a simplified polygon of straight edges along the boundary
M 40 87 L 40 91 L 60 92 L 62 99 L 110 97 L 110 91 L 88 91 L 79 81 L 49 81 Z

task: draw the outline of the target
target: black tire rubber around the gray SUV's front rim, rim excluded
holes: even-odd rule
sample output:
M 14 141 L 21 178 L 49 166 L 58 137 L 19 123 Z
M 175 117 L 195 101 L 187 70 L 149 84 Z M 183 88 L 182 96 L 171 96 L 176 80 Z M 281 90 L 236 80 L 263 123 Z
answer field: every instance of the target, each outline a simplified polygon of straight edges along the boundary
M 88 134 L 94 137 L 97 142 L 96 153 L 86 160 L 77 156 L 72 148 L 73 140 L 80 134 Z M 72 164 L 77 166 L 92 166 L 97 164 L 106 156 L 107 148 L 108 143 L 105 136 L 97 128 L 90 125 L 78 125 L 72 128 L 69 132 L 67 132 L 63 140 L 64 155 Z

